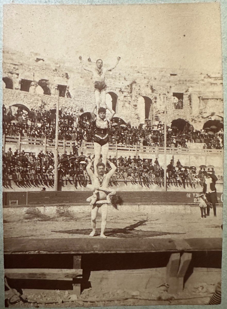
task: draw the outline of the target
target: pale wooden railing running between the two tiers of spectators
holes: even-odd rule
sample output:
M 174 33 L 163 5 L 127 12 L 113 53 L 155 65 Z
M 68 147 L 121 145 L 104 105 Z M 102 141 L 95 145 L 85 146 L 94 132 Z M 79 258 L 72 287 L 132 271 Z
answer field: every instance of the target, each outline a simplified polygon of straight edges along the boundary
M 5 151 L 5 145 L 15 145 L 19 150 L 23 145 L 33 145 L 33 146 L 42 146 L 44 151 L 47 148 L 55 147 L 54 140 L 50 140 L 47 138 L 30 138 L 30 137 L 21 137 L 19 136 L 5 136 L 3 135 L 2 145 L 3 151 Z M 66 141 L 58 140 L 58 148 L 65 151 L 66 149 L 72 150 L 73 145 L 75 145 L 78 150 L 83 151 L 84 149 L 94 149 L 94 144 L 92 142 L 83 142 L 82 145 L 76 141 Z M 164 147 L 158 146 L 143 146 L 143 145 L 121 145 L 121 144 L 110 144 L 109 150 L 112 151 L 128 151 L 133 152 L 137 155 L 138 152 L 143 153 L 153 153 L 153 154 L 164 154 Z M 174 148 L 174 147 L 166 147 L 167 153 L 174 154 L 201 154 L 201 155 L 222 155 L 222 149 L 190 149 L 190 148 Z

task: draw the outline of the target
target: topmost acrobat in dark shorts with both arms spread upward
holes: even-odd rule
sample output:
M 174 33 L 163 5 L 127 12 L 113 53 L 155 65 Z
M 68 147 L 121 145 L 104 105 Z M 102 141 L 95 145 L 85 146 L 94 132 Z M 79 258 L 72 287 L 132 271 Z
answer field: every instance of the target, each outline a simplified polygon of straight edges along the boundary
M 88 58 L 89 59 L 89 58 Z M 96 61 L 96 67 L 92 68 L 91 65 L 85 66 L 82 57 L 79 56 L 79 60 L 81 62 L 81 65 L 84 70 L 92 72 L 92 81 L 94 83 L 94 88 L 95 88 L 95 106 L 93 109 L 93 112 L 98 111 L 100 106 L 105 106 L 106 103 L 106 84 L 105 84 L 105 74 L 107 71 L 113 70 L 118 62 L 120 61 L 121 57 L 117 58 L 117 63 L 113 67 L 109 68 L 103 68 L 103 62 L 101 59 L 98 59 Z M 90 62 L 90 61 L 89 61 Z

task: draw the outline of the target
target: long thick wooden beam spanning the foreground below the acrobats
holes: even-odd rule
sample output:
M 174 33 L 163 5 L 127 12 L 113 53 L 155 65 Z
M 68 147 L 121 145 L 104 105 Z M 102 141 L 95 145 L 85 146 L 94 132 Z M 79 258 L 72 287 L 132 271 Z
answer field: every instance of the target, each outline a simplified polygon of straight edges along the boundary
M 176 247 L 173 239 L 164 238 L 5 238 L 4 252 L 34 253 L 132 253 L 221 251 L 221 238 L 186 239 L 190 248 Z

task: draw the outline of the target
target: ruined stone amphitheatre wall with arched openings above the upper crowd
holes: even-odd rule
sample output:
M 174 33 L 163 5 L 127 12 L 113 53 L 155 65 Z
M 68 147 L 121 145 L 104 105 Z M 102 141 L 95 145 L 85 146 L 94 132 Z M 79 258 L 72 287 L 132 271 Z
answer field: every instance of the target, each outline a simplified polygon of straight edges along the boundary
M 105 65 L 105 63 L 104 63 Z M 182 118 L 202 129 L 208 120 L 223 117 L 222 74 L 190 72 L 185 69 L 118 67 L 106 76 L 107 93 L 116 116 L 131 125 L 164 121 L 165 97 L 167 125 Z M 5 88 L 4 88 L 5 87 Z M 91 75 L 78 62 L 60 63 L 37 54 L 3 53 L 3 104 L 23 104 L 28 108 L 55 107 L 56 89 L 60 108 L 83 114 L 94 104 Z M 71 98 L 70 98 L 71 97 Z M 183 108 L 174 108 L 182 98 Z

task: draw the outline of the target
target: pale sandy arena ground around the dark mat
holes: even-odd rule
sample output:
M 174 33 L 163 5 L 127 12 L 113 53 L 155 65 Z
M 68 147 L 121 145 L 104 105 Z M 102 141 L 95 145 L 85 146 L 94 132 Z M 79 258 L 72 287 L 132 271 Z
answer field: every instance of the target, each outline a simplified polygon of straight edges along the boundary
M 172 239 L 221 237 L 222 207 L 217 208 L 217 217 L 213 216 L 211 209 L 210 216 L 206 219 L 200 218 L 198 206 L 189 207 L 187 211 L 184 211 L 185 206 L 171 207 L 169 209 L 166 205 L 152 206 L 149 213 L 146 209 L 129 212 L 124 211 L 123 206 L 119 210 L 111 207 L 107 218 L 106 231 L 108 229 L 124 229 L 138 222 L 138 226 L 134 230 L 168 233 L 167 235 L 152 237 L 169 238 L 171 233 L 181 233 L 172 234 Z M 49 207 L 49 209 L 51 208 Z M 161 212 L 160 209 L 162 209 Z M 30 214 L 29 219 L 25 219 L 28 218 L 29 214 L 18 215 L 19 212 L 20 208 L 14 208 L 11 212 L 9 212 L 9 209 L 5 209 L 3 215 L 5 238 L 89 237 L 87 229 L 90 229 L 90 209 L 88 206 L 81 207 L 79 211 L 76 210 L 76 213 L 71 211 L 71 207 L 68 207 L 64 213 L 58 212 L 58 214 L 50 212 L 48 215 L 41 215 L 34 212 Z M 47 214 L 47 211 L 45 213 Z M 100 225 L 101 215 L 99 214 L 96 227 L 100 228 Z M 74 230 L 85 231 L 77 234 Z M 106 232 L 106 235 L 108 235 L 108 232 Z

